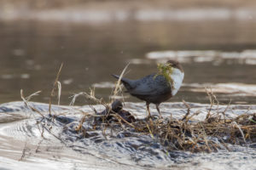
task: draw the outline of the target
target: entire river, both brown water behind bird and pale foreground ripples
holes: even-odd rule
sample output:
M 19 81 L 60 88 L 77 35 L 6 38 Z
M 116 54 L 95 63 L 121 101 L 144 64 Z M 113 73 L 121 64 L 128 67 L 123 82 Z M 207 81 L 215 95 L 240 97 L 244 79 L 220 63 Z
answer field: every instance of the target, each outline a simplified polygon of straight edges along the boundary
M 0 168 L 1 169 L 256 169 L 255 144 L 232 151 L 208 153 L 166 152 L 150 136 L 102 133 L 79 139 L 73 132 L 80 114 L 91 112 L 90 101 L 69 97 L 96 88 L 96 96 L 108 100 L 114 86 L 110 75 L 120 74 L 131 63 L 125 77 L 138 78 L 156 70 L 156 63 L 178 59 L 185 71 L 183 87 L 173 99 L 160 105 L 164 116 L 179 118 L 192 111 L 206 116 L 212 88 L 228 116 L 254 113 L 256 96 L 256 22 L 253 20 L 111 21 L 103 24 L 1 21 L 0 22 Z M 49 124 L 42 132 L 40 116 L 20 100 L 25 94 L 42 93 L 33 107 L 47 115 L 49 92 L 61 63 L 61 105 L 55 114 L 65 114 L 73 124 Z M 145 105 L 124 94 L 125 108 L 145 116 Z M 8 103 L 10 102 L 10 103 Z M 172 102 L 172 103 L 170 103 Z M 242 104 L 242 105 L 241 105 Z M 98 111 L 103 108 L 95 106 Z M 155 108 L 152 108 L 156 114 Z M 45 122 L 47 124 L 47 122 Z M 67 129 L 63 129 L 67 127 Z M 109 132 L 108 132 L 109 133 Z M 20 160 L 20 161 L 19 161 Z

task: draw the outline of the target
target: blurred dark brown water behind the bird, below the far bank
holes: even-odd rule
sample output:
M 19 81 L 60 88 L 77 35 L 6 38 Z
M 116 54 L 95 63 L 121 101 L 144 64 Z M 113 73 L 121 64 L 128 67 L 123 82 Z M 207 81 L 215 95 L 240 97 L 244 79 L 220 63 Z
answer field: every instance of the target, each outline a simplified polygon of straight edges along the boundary
M 185 71 L 183 87 L 172 101 L 207 103 L 212 87 L 225 104 L 255 104 L 256 22 L 113 22 L 102 25 L 6 21 L 0 31 L 0 102 L 38 90 L 35 101 L 48 103 L 61 63 L 61 104 L 73 94 L 96 88 L 108 100 L 114 78 L 129 62 L 125 77 L 139 78 L 156 63 L 178 59 Z M 127 36 L 129 35 L 129 36 Z M 126 95 L 126 101 L 139 101 Z M 78 99 L 78 105 L 88 104 Z

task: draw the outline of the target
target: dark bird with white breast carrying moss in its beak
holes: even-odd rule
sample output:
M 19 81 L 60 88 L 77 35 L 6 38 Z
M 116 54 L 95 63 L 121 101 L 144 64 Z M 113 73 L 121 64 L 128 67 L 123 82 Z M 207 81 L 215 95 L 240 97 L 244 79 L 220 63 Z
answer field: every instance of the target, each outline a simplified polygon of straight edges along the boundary
M 121 82 L 126 88 L 126 93 L 146 101 L 148 117 L 151 116 L 149 105 L 154 104 L 162 118 L 159 106 L 177 94 L 183 83 L 184 71 L 177 60 L 168 60 L 166 64 L 159 64 L 158 69 L 158 73 L 137 80 L 121 77 Z M 112 76 L 119 79 L 118 75 Z

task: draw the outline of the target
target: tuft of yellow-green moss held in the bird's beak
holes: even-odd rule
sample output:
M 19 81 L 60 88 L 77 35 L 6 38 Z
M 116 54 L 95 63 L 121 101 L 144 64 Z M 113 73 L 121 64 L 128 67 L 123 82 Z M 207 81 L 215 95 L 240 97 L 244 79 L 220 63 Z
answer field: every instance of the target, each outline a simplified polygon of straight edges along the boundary
M 170 75 L 172 75 L 172 71 L 173 71 L 172 66 L 168 63 L 167 64 L 157 64 L 157 69 L 158 69 L 158 73 L 154 76 L 154 78 L 162 75 L 163 77 L 166 78 L 167 82 L 169 82 L 171 85 L 173 85 L 172 77 L 170 77 Z

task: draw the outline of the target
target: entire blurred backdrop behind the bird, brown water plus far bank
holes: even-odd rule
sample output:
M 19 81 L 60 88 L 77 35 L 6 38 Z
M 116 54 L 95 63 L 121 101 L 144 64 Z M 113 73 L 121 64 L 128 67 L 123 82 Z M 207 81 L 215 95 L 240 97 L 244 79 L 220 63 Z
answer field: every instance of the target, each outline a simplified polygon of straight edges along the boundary
M 0 0 L 0 39 L 0 103 L 21 88 L 48 103 L 62 62 L 67 105 L 89 88 L 108 100 L 110 75 L 129 62 L 125 77 L 136 79 L 177 59 L 185 78 L 172 101 L 208 103 L 207 87 L 222 104 L 255 104 L 254 0 Z

